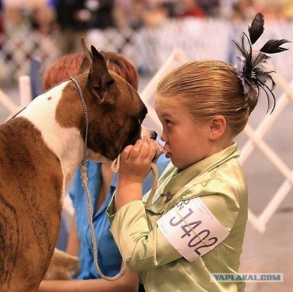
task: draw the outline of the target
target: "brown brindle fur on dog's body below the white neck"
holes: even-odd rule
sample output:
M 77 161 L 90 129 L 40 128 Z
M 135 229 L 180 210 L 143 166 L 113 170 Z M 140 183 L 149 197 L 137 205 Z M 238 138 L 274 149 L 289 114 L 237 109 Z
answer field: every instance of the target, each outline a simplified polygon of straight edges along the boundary
M 57 240 L 63 175 L 24 118 L 0 126 L 0 150 L 0 291 L 34 291 Z

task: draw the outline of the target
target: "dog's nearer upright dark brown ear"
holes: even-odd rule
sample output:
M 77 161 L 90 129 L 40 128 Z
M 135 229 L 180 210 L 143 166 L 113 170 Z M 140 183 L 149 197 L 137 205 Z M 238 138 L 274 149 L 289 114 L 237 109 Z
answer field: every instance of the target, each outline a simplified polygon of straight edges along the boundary
M 94 46 L 91 46 L 92 50 L 92 67 L 89 73 L 89 81 L 92 84 L 94 91 L 97 93 L 101 103 L 114 103 L 115 96 L 113 94 L 115 90 L 114 79 L 111 77 L 106 61 Z

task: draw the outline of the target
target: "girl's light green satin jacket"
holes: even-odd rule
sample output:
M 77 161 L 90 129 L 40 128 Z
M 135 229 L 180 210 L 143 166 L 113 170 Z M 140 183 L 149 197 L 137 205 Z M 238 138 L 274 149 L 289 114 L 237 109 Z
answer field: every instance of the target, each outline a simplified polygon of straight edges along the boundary
M 110 231 L 129 270 L 138 271 L 147 292 L 240 292 L 245 283 L 211 282 L 210 273 L 237 273 L 247 221 L 247 188 L 237 144 L 178 172 L 169 164 L 154 202 L 131 201 L 113 212 Z M 160 194 L 175 196 L 165 203 Z M 156 221 L 181 200 L 201 200 L 230 234 L 217 247 L 189 262 L 167 241 Z M 147 195 L 144 197 L 146 201 Z

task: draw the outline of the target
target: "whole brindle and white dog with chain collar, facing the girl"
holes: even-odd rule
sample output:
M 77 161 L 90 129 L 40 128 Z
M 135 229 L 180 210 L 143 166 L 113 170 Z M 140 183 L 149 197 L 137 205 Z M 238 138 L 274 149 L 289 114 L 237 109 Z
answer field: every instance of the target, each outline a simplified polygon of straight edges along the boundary
M 141 136 L 147 109 L 91 48 L 75 77 L 89 113 L 88 158 L 109 161 Z M 82 162 L 85 117 L 72 81 L 0 126 L 0 291 L 33 292 L 53 255 L 64 186 Z

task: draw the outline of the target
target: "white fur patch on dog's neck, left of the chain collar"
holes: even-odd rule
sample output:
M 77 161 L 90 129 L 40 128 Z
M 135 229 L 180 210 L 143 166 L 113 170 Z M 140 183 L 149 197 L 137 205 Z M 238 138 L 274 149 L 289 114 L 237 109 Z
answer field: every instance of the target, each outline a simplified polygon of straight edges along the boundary
M 61 163 L 65 184 L 72 178 L 74 171 L 81 163 L 84 148 L 84 140 L 79 129 L 61 127 L 55 119 L 58 102 L 68 82 L 62 82 L 39 95 L 18 114 L 40 130 L 44 142 Z

